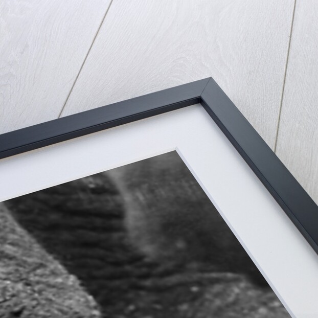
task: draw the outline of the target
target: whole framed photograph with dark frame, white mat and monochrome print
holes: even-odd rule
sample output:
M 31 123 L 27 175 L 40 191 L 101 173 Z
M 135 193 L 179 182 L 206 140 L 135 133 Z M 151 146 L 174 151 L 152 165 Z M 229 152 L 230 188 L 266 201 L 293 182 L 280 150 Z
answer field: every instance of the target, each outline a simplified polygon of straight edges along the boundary
M 0 157 L 0 316 L 318 316 L 318 207 L 212 78 Z

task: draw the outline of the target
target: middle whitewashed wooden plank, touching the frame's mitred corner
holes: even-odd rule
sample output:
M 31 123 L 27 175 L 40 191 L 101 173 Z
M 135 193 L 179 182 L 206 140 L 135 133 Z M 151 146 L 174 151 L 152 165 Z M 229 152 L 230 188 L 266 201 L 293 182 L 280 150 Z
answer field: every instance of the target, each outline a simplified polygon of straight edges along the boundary
M 62 116 L 212 76 L 272 147 L 292 11 L 292 0 L 114 0 Z

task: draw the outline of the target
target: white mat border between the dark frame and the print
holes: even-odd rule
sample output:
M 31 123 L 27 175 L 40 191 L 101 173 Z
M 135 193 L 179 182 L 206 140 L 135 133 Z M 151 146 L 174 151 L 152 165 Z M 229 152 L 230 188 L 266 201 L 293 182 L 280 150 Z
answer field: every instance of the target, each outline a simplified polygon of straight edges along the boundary
M 292 316 L 317 317 L 316 253 L 199 105 L 1 160 L 0 201 L 175 148 Z

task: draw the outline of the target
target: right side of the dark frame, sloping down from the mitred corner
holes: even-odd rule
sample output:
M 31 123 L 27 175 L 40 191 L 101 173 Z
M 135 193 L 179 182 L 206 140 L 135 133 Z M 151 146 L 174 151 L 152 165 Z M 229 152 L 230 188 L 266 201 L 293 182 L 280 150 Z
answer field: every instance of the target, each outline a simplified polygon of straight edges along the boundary
M 318 206 L 211 78 L 201 104 L 318 254 Z

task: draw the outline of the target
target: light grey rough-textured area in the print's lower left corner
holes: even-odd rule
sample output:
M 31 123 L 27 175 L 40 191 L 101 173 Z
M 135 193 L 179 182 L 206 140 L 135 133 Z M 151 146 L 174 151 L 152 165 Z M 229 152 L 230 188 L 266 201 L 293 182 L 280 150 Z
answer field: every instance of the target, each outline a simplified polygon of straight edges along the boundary
M 100 317 L 78 279 L 0 205 L 0 317 Z

